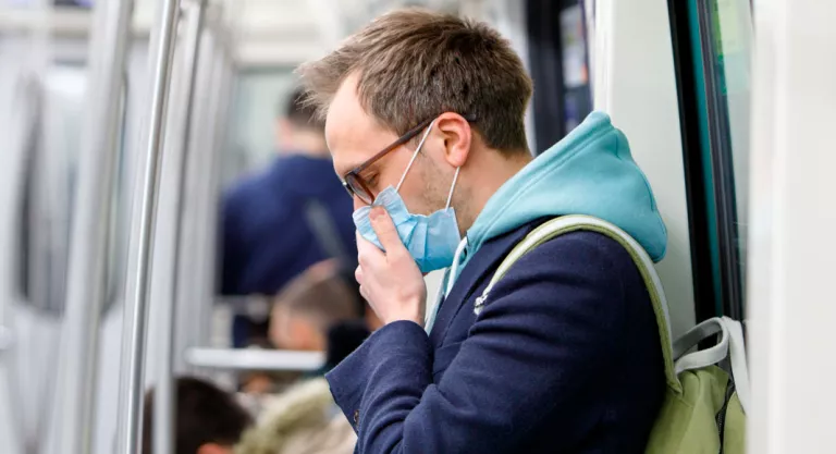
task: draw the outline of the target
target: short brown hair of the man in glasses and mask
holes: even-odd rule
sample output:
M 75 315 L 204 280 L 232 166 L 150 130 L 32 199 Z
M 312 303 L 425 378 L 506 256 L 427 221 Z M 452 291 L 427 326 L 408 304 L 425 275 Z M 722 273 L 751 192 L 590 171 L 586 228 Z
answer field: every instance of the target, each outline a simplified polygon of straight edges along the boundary
M 484 23 L 421 9 L 384 14 L 321 60 L 298 69 L 327 113 L 342 82 L 359 74 L 364 109 L 398 135 L 444 112 L 476 116 L 497 150 L 527 150 L 531 78 L 511 44 Z

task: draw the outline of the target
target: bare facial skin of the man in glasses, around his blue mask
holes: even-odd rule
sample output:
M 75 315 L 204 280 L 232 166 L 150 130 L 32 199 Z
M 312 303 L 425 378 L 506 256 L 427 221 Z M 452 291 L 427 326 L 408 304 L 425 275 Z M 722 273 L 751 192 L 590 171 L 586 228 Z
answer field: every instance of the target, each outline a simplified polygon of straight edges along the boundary
M 357 97 L 357 74 L 346 77 L 329 107 L 325 121 L 325 139 L 340 179 L 344 179 L 346 173 L 398 138 L 397 134 L 383 127 L 362 109 Z M 430 132 L 398 191 L 413 213 L 429 214 L 443 208 L 448 189 L 448 181 L 441 182 L 434 177 L 441 173 L 439 165 L 443 162 L 443 150 L 433 133 L 434 131 Z M 423 132 L 419 137 L 422 135 Z M 401 146 L 360 172 L 359 176 L 372 195 L 377 196 L 388 186 L 397 186 L 414 151 L 415 148 L 410 145 Z M 358 197 L 354 197 L 355 209 L 364 205 L 366 204 Z

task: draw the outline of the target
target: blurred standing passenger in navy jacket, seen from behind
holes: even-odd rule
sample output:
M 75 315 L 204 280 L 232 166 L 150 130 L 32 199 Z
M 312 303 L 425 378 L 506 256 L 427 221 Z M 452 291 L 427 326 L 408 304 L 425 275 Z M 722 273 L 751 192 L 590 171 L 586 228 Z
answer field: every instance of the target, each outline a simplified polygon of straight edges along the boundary
M 302 99 L 295 91 L 276 120 L 273 163 L 224 197 L 223 295 L 270 298 L 327 258 L 339 259 L 342 273 L 353 277 L 357 246 L 352 200 L 334 175 L 323 124 Z M 356 283 L 352 285 L 357 292 Z M 233 345 L 266 338 L 268 324 L 237 314 Z

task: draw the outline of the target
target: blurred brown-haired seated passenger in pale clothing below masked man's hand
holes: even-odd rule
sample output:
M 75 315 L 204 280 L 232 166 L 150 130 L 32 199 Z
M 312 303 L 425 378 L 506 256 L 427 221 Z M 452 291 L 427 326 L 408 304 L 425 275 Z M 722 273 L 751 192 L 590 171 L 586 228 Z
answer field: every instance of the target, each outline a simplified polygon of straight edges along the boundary
M 279 348 L 325 351 L 314 378 L 260 403 L 258 425 L 236 454 L 349 454 L 357 435 L 342 416 L 323 375 L 369 335 L 348 285 L 333 262 L 311 267 L 275 298 L 270 336 Z

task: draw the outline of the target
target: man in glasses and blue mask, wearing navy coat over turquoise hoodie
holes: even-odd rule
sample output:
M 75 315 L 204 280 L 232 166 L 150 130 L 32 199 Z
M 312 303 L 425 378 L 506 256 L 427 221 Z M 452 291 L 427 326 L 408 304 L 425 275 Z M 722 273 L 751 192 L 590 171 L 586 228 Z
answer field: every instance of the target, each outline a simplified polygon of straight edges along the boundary
M 328 376 L 358 453 L 641 453 L 664 394 L 643 280 L 574 232 L 499 263 L 564 214 L 612 222 L 655 260 L 666 231 L 624 135 L 593 113 L 532 159 L 531 81 L 489 26 L 381 16 L 299 69 L 354 197 L 356 278 L 383 328 Z M 446 268 L 426 306 L 422 274 Z

